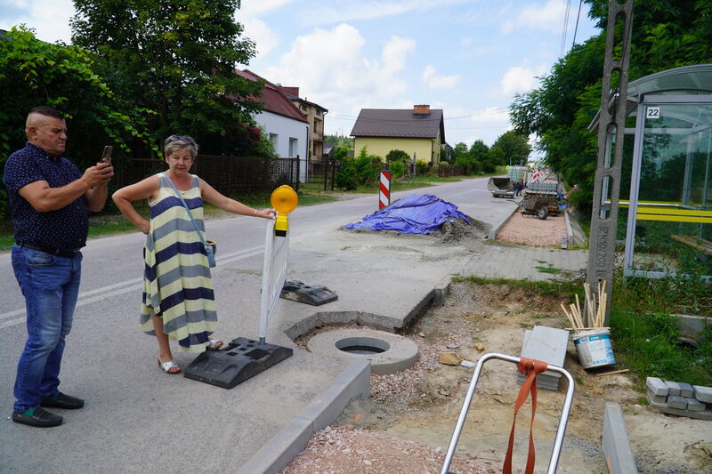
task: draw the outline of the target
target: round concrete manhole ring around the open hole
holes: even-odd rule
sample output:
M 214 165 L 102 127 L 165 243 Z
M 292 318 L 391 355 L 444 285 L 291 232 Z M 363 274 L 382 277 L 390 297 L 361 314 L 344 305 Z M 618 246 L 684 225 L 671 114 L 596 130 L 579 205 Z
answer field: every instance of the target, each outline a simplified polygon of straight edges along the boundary
M 398 334 L 375 329 L 335 329 L 312 337 L 307 348 L 314 354 L 371 362 L 371 374 L 394 374 L 416 363 L 417 345 Z

